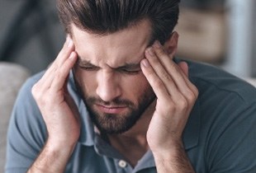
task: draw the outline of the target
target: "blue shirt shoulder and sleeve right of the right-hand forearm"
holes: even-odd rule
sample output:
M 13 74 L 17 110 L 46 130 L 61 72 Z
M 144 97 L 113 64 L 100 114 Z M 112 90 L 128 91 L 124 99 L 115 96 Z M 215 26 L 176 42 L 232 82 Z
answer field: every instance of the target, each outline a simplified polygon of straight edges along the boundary
M 192 120 L 188 126 L 198 129 L 197 154 L 204 157 L 205 169 L 207 172 L 237 172 L 249 168 L 255 171 L 256 147 L 251 145 L 256 139 L 255 87 L 220 68 L 187 63 L 190 79 L 199 91 L 197 111 L 192 115 L 192 119 L 197 118 L 194 124 L 198 127 Z M 196 160 L 193 162 L 201 165 Z

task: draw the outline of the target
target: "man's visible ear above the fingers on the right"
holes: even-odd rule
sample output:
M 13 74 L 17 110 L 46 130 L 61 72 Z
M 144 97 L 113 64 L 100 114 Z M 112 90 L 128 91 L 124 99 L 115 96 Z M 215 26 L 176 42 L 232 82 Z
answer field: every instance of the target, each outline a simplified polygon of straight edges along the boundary
M 172 35 L 164 43 L 164 49 L 167 53 L 173 57 L 177 53 L 178 49 L 178 32 L 173 31 Z

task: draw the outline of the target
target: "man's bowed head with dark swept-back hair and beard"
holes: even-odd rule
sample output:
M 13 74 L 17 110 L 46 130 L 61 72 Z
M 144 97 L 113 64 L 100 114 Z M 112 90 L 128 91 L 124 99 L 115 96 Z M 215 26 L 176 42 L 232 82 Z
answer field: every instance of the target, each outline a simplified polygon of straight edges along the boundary
M 152 113 L 155 99 L 140 61 L 154 40 L 176 51 L 178 37 L 171 33 L 178 0 L 59 0 L 58 6 L 78 54 L 73 76 L 92 121 L 105 133 L 135 127 Z

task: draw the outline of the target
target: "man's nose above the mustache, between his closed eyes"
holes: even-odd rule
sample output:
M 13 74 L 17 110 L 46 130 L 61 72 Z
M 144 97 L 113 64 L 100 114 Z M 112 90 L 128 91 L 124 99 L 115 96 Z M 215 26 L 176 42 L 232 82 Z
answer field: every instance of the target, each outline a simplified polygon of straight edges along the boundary
M 114 72 L 100 72 L 97 76 L 97 96 L 102 101 L 113 101 L 121 96 L 120 81 Z

